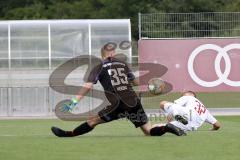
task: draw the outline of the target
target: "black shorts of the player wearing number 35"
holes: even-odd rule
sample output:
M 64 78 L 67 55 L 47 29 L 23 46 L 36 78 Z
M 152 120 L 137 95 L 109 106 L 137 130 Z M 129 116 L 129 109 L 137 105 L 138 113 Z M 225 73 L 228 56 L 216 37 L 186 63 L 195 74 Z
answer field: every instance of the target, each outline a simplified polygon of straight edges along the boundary
M 137 101 L 135 107 L 128 107 L 121 100 L 117 106 L 107 106 L 98 112 L 98 115 L 105 122 L 110 122 L 120 118 L 127 118 L 135 127 L 140 127 L 148 122 L 148 117 L 143 110 L 140 100 Z

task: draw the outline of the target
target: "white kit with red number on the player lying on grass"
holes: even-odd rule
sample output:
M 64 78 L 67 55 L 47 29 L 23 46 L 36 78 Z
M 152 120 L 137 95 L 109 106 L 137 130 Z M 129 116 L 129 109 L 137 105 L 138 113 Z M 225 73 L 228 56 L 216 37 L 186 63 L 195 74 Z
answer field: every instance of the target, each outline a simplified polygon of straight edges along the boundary
M 209 124 L 217 122 L 202 102 L 193 96 L 182 96 L 175 100 L 174 103 L 167 104 L 166 109 L 168 112 L 174 113 L 174 115 L 180 114 L 187 118 L 187 125 L 183 125 L 178 121 L 170 122 L 183 130 L 197 130 L 204 122 Z

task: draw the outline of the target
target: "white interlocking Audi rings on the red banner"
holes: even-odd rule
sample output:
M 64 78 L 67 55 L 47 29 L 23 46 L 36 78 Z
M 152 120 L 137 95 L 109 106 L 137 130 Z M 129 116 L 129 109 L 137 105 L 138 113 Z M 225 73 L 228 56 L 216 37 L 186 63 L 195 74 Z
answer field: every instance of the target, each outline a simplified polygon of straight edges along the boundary
M 199 46 L 198 48 L 196 48 L 190 55 L 189 59 L 188 59 L 188 72 L 191 76 L 191 78 L 199 85 L 204 86 L 204 87 L 215 87 L 218 86 L 222 83 L 225 83 L 229 86 L 233 86 L 233 87 L 239 87 L 240 86 L 240 81 L 232 81 L 230 79 L 228 79 L 228 76 L 230 74 L 231 71 L 231 60 L 230 57 L 228 55 L 228 51 L 232 50 L 232 49 L 240 49 L 240 44 L 230 44 L 225 46 L 224 48 L 218 46 L 218 45 L 214 45 L 214 44 L 204 44 Z M 218 79 L 215 81 L 204 81 L 202 79 L 200 79 L 194 69 L 193 69 L 193 63 L 194 63 L 194 59 L 195 57 L 200 54 L 202 51 L 204 50 L 215 50 L 217 51 L 217 57 L 215 59 L 214 62 L 214 68 L 215 68 L 215 72 L 218 76 Z M 223 58 L 223 60 L 225 61 L 225 70 L 222 73 L 221 68 L 220 68 L 220 62 L 221 59 Z

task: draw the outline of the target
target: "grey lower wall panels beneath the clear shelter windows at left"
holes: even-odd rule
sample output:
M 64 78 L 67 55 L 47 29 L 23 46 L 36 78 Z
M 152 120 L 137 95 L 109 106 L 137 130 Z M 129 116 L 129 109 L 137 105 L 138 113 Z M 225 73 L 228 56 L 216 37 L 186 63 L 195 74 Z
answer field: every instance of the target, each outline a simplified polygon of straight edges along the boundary
M 56 104 L 71 97 L 73 96 L 58 93 L 49 86 L 1 87 L 0 117 L 53 116 Z M 86 97 L 74 113 L 89 111 L 99 103 L 101 100 Z

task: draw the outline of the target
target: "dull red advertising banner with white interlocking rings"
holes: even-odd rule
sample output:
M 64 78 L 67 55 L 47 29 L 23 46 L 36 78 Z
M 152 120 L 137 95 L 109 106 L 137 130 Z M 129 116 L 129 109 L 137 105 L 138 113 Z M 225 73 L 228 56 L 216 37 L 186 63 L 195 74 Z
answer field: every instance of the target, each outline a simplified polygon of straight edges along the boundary
M 139 63 L 168 68 L 173 91 L 240 91 L 240 39 L 140 40 Z

